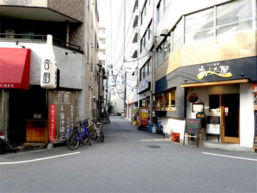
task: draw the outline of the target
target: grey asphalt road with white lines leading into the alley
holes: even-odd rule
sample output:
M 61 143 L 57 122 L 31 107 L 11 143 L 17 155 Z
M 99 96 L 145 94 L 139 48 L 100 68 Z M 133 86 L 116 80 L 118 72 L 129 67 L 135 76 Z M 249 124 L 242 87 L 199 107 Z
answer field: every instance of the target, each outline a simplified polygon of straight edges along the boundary
M 256 153 L 183 146 L 120 117 L 102 130 L 75 151 L 1 155 L 0 192 L 257 192 Z

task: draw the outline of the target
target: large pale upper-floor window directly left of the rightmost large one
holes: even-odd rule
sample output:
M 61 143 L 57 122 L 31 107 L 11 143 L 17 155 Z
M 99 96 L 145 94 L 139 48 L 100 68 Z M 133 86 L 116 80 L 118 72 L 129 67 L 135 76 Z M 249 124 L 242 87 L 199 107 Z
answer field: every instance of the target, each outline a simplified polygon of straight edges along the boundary
M 185 16 L 185 42 L 214 37 L 213 8 Z

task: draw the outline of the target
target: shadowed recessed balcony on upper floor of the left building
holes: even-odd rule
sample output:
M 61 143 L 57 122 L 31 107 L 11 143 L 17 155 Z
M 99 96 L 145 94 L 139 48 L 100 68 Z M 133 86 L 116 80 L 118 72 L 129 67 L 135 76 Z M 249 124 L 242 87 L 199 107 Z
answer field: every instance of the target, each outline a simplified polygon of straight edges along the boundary
M 2 42 L 44 42 L 51 34 L 56 45 L 77 50 L 83 47 L 83 42 L 77 41 L 83 36 L 80 21 L 47 8 L 0 7 Z

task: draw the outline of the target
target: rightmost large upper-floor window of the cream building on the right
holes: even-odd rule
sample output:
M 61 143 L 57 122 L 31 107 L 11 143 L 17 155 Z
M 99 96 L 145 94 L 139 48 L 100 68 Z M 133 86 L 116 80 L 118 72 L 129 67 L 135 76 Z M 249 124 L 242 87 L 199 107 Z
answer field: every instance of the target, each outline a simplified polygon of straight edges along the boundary
M 217 36 L 252 29 L 252 0 L 217 6 Z

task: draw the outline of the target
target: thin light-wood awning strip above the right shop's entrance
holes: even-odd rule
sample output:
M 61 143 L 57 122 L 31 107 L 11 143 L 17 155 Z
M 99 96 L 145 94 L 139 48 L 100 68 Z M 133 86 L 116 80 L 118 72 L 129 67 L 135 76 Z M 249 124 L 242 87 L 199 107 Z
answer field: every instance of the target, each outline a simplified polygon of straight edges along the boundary
M 202 83 L 185 83 L 185 84 L 181 84 L 180 87 L 215 86 L 215 85 L 239 84 L 239 83 L 249 83 L 249 79 L 237 79 L 237 80 L 229 80 L 229 81 L 211 81 L 211 82 L 202 82 Z

